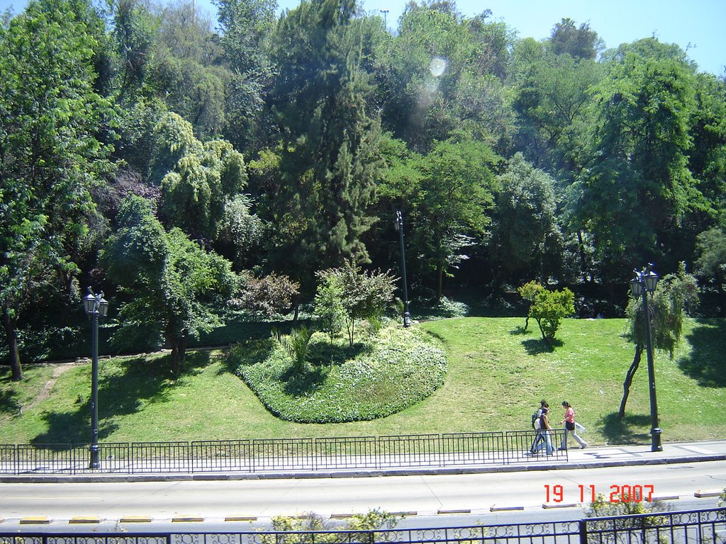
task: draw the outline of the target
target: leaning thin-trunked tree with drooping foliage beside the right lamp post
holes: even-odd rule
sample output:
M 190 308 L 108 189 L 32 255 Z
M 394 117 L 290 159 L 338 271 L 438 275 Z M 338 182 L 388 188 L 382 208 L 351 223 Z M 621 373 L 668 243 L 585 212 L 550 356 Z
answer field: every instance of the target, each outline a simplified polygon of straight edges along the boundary
M 648 310 L 653 335 L 653 348 L 667 351 L 673 357 L 681 337 L 683 320 L 689 311 L 698 305 L 698 284 L 696 279 L 685 271 L 684 263 L 680 263 L 678 273 L 668 274 L 658 282 L 656 291 L 650 295 Z M 640 366 L 640 359 L 645 350 L 645 323 L 643 322 L 643 300 L 631 297 L 628 302 L 626 316 L 629 321 L 627 333 L 630 342 L 635 344 L 635 356 L 623 383 L 623 399 L 620 401 L 618 417 L 625 415 L 625 404 L 630 393 L 630 384 Z

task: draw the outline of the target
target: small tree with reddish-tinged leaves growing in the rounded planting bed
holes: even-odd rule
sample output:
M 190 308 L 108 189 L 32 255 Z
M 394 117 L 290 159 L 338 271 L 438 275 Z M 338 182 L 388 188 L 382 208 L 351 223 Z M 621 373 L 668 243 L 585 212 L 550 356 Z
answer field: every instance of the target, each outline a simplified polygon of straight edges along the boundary
M 390 271 L 366 273 L 352 259 L 346 260 L 340 268 L 330 268 L 319 273 L 323 282 L 327 282 L 329 276 L 335 278 L 342 290 L 348 342 L 352 347 L 356 322 L 383 316 L 393 300 L 396 277 Z

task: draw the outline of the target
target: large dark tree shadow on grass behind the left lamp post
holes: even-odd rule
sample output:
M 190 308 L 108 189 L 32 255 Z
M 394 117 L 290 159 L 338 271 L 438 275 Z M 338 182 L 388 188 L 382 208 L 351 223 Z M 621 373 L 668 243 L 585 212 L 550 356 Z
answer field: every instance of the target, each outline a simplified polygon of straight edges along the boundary
M 198 374 L 211 361 L 208 352 L 187 355 L 184 373 L 179 376 Z M 132 358 L 119 364 L 121 372 L 104 374 L 100 362 L 98 416 L 99 440 L 109 437 L 118 425 L 110 421 L 114 416 L 124 416 L 141 411 L 144 405 L 163 403 L 179 384 L 171 378 L 171 355 L 153 360 Z M 91 366 L 88 366 L 88 397 L 79 397 L 74 409 L 65 412 L 45 412 L 41 416 L 47 430 L 30 440 L 32 444 L 87 443 L 91 442 Z

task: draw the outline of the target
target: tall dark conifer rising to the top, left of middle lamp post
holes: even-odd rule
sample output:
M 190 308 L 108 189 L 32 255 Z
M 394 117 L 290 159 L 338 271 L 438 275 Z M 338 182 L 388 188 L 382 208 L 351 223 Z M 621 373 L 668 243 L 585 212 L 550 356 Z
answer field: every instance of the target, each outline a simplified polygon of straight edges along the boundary
M 366 107 L 367 27 L 355 15 L 353 0 L 303 1 L 282 15 L 273 39 L 270 100 L 284 145 L 272 258 L 308 292 L 315 270 L 367 258 L 361 236 L 382 162 Z

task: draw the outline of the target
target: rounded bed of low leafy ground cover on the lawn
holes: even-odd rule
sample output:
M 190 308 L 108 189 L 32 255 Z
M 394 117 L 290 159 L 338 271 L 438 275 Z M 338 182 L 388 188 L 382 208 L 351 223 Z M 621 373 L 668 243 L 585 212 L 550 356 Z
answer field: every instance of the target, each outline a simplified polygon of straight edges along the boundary
M 367 421 L 390 416 L 431 395 L 444 382 L 441 348 L 416 329 L 387 326 L 352 347 L 310 339 L 300 368 L 278 342 L 232 348 L 229 366 L 275 416 L 299 423 Z

